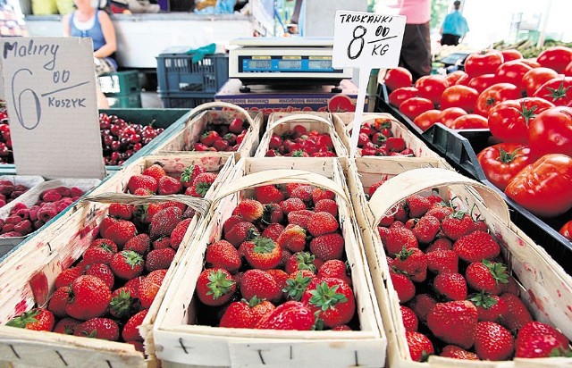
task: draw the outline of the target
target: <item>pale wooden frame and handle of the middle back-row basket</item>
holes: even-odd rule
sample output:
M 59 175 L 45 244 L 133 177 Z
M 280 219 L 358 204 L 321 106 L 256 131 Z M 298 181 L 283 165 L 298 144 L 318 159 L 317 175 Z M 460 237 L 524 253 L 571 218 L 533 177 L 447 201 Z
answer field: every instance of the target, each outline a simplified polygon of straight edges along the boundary
M 268 151 L 270 138 L 273 134 L 282 135 L 296 125 L 301 125 L 309 130 L 317 130 L 320 133 L 328 133 L 332 138 L 333 149 L 338 157 L 347 156 L 348 150 L 338 136 L 338 129 L 332 121 L 330 113 L 271 113 L 268 117 L 268 126 L 265 135 L 260 139 L 256 157 L 265 157 Z

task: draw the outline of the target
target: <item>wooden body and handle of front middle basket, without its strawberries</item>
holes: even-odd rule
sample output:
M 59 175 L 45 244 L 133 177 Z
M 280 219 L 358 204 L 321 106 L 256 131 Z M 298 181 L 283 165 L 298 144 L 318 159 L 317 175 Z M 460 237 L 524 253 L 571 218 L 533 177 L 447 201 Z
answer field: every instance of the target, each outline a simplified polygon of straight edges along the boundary
M 227 329 L 194 324 L 198 301 L 195 285 L 206 246 L 221 238 L 223 222 L 242 197 L 259 185 L 307 182 L 333 190 L 337 196 L 345 250 L 351 267 L 361 330 L 288 331 Z M 229 185 L 214 200 L 204 234 L 181 261 L 171 289 L 157 314 L 153 335 L 164 366 L 383 366 L 385 339 L 377 306 L 372 303 L 369 271 L 357 244 L 349 215 L 347 189 L 337 159 L 241 159 Z M 173 364 L 173 365 L 171 365 Z

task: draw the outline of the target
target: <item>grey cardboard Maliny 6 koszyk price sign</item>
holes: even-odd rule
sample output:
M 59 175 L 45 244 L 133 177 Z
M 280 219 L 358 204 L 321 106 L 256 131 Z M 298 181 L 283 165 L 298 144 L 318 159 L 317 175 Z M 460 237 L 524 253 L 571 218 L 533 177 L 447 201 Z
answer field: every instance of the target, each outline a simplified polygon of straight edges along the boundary
M 3 38 L 0 47 L 18 174 L 103 179 L 91 38 Z

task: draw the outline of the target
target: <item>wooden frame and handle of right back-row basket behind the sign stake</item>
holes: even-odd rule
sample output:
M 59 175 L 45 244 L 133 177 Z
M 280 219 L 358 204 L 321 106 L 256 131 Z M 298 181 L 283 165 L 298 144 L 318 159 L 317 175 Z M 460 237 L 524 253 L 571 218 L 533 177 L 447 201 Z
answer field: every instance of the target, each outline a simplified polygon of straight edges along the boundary
M 353 128 L 354 113 L 332 113 L 332 119 L 337 129 L 338 135 L 343 144 L 350 150 L 351 134 Z M 400 121 L 397 121 L 389 113 L 364 113 L 360 125 L 367 121 L 374 121 L 375 119 L 383 119 L 391 121 L 391 133 L 394 137 L 400 137 L 405 140 L 406 146 L 411 148 L 413 155 L 416 157 L 433 157 L 438 158 L 439 155 L 431 150 L 429 146 L 425 145 L 423 141 L 415 136 L 408 128 Z M 361 154 L 356 153 L 357 157 Z M 371 157 L 371 156 L 367 156 Z M 391 156 L 393 157 L 393 156 Z

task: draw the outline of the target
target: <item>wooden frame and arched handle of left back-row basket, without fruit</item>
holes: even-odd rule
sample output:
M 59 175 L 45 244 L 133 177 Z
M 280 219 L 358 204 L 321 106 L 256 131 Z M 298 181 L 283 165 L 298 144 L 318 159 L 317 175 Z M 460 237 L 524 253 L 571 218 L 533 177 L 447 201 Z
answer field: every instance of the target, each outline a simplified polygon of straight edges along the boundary
M 214 110 L 216 108 L 225 108 L 228 110 Z M 201 152 L 191 151 L 191 149 L 200 139 L 206 125 L 228 125 L 234 118 L 246 118 L 250 125 L 236 153 L 239 154 L 240 157 L 252 157 L 258 146 L 260 129 L 264 122 L 264 117 L 262 113 L 247 112 L 240 106 L 225 102 L 211 102 L 195 107 L 189 113 L 189 118 L 184 127 L 174 132 L 171 136 L 157 142 L 149 153 L 151 155 L 172 155 L 173 153 L 181 155 L 181 152 L 184 152 L 186 155 L 199 155 Z M 232 154 L 235 154 L 235 152 L 226 153 L 226 155 Z

